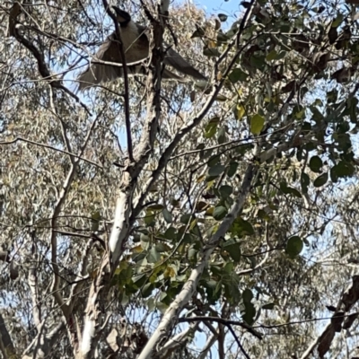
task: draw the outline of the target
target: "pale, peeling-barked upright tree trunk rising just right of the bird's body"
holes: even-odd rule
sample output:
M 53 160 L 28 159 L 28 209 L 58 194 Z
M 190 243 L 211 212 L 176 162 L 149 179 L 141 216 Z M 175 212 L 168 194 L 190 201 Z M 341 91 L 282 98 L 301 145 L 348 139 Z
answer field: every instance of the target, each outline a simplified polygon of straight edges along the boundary
M 118 194 L 115 210 L 115 220 L 109 237 L 109 255 L 103 258 L 99 276 L 92 283 L 86 306 L 86 316 L 84 318 L 82 344 L 80 353 L 83 359 L 91 357 L 91 353 L 96 346 L 96 329 L 101 325 L 101 313 L 99 311 L 98 297 L 105 285 L 105 277 L 111 277 L 117 267 L 121 256 L 123 245 L 130 232 L 129 215 L 132 212 L 132 198 L 136 189 L 136 183 L 140 172 L 144 169 L 150 154 L 152 153 L 153 143 L 157 133 L 158 119 L 161 115 L 161 72 L 162 57 L 158 56 L 158 48 L 162 48 L 163 22 L 153 22 L 153 39 L 150 41 L 150 48 L 153 50 L 154 72 L 148 76 L 148 86 L 151 88 L 150 96 L 147 101 L 147 121 L 143 130 L 142 138 L 137 155 L 134 154 L 135 161 L 129 159 L 127 167 L 122 173 L 122 182 Z

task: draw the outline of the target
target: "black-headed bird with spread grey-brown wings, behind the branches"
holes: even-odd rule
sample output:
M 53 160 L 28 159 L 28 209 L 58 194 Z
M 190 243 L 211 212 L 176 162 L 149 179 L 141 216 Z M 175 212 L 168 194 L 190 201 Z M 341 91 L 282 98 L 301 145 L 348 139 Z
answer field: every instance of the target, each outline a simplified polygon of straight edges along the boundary
M 126 64 L 128 65 L 128 74 L 144 74 L 144 66 L 138 65 L 139 62 L 149 57 L 150 44 L 146 34 L 146 28 L 131 18 L 131 15 L 118 6 L 112 6 L 115 11 L 116 19 L 119 24 L 119 31 L 122 46 L 125 52 Z M 167 44 L 164 43 L 167 47 Z M 109 37 L 101 44 L 94 58 L 101 61 L 122 64 L 123 60 L 118 47 L 116 31 L 112 32 Z M 131 63 L 136 65 L 131 66 Z M 205 75 L 201 74 L 196 68 L 180 56 L 173 48 L 168 48 L 163 63 L 174 67 L 181 74 L 193 77 L 196 80 L 206 81 Z M 117 80 L 123 75 L 122 66 L 111 66 L 106 64 L 90 64 L 83 74 L 78 76 L 79 91 L 88 89 L 96 84 L 109 83 Z M 163 79 L 177 80 L 182 83 L 188 82 L 186 77 L 173 74 L 167 68 L 162 72 Z

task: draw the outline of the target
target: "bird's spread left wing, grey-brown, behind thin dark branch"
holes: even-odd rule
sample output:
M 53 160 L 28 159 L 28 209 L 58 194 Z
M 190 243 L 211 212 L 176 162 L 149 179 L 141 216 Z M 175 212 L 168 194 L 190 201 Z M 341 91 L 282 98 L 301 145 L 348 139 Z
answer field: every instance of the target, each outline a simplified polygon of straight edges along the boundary
M 93 60 L 96 59 L 108 62 L 121 62 L 118 45 L 114 41 L 113 35 L 101 45 Z M 94 84 L 111 82 L 122 75 L 122 68 L 105 64 L 91 64 L 87 70 L 77 78 L 79 90 L 83 91 Z

